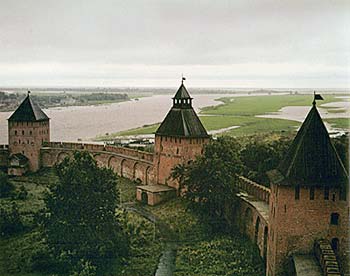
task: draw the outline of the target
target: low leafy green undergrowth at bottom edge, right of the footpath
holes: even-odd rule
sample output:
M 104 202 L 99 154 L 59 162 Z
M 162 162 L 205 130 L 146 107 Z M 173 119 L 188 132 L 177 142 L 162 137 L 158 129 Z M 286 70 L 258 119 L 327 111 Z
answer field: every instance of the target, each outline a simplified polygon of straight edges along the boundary
M 239 235 L 219 236 L 181 246 L 175 276 L 264 275 L 264 263 L 256 247 Z

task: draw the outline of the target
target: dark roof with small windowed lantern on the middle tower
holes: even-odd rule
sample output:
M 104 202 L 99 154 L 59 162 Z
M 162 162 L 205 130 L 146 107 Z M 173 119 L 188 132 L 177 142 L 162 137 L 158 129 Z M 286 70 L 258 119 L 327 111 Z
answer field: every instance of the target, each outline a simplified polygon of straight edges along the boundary
M 156 135 L 186 138 L 209 137 L 192 108 L 192 98 L 183 83 L 173 98 L 173 107 L 157 129 Z

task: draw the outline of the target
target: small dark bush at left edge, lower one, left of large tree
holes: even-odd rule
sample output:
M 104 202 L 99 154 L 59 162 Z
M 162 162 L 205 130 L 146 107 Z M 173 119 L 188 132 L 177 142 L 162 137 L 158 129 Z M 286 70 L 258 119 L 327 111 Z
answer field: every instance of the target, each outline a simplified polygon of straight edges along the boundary
M 15 203 L 10 210 L 0 208 L 0 235 L 7 236 L 23 230 L 23 223 Z

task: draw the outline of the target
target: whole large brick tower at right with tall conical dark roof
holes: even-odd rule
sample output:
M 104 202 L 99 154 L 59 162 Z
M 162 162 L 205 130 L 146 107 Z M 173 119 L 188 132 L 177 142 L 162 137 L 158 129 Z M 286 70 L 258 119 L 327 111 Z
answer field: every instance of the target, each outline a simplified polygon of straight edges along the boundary
M 292 255 L 313 256 L 327 239 L 343 269 L 348 263 L 348 175 L 315 102 L 271 180 L 267 275 L 281 275 Z

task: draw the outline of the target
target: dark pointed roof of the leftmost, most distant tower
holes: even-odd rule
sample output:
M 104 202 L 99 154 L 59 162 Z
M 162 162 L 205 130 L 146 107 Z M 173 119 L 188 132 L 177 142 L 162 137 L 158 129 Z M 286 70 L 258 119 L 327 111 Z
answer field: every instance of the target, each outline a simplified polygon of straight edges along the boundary
M 37 122 L 49 120 L 49 117 L 33 102 L 28 94 L 8 120 L 14 122 Z

